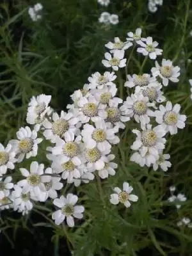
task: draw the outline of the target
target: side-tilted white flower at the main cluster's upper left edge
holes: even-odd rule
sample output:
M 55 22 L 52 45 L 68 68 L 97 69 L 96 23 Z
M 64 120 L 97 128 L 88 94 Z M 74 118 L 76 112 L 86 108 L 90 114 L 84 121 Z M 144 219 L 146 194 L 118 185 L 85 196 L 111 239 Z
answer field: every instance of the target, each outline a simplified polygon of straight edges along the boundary
M 26 122 L 28 124 L 35 124 L 39 129 L 45 120 L 45 115 L 49 116 L 51 114 L 50 101 L 51 95 L 41 94 L 37 97 L 33 96 L 29 102 Z

